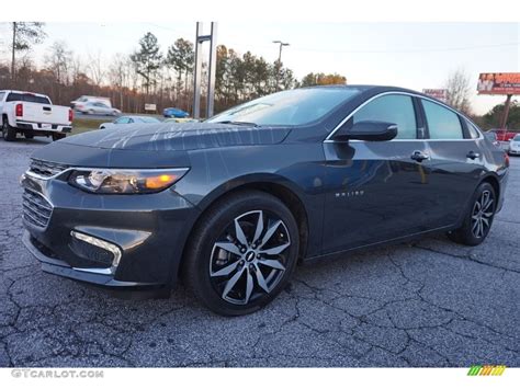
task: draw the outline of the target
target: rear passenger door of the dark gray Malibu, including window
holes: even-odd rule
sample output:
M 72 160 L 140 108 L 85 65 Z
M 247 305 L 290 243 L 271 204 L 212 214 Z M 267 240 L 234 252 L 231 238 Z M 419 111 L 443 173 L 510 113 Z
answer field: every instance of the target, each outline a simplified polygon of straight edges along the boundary
M 430 188 L 436 196 L 429 214 L 434 227 L 456 222 L 484 172 L 482 135 L 467 127 L 455 111 L 432 100 L 420 99 L 428 134 Z

